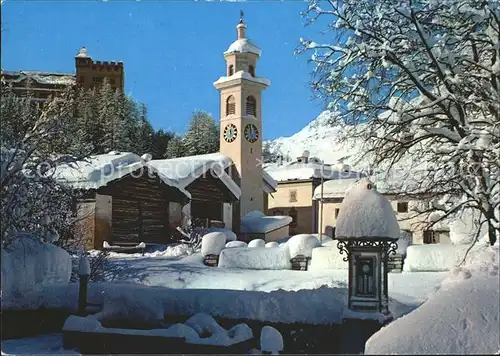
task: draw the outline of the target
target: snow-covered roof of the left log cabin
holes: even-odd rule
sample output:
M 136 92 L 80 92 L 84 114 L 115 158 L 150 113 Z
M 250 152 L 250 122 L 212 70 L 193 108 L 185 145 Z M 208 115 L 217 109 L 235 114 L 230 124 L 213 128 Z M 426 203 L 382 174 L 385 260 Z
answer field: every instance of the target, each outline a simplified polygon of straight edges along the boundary
M 90 156 L 82 161 L 60 165 L 54 172 L 54 178 L 61 183 L 69 184 L 74 189 L 98 189 L 142 167 L 152 170 L 158 174 L 162 182 L 177 188 L 188 198 L 191 197 L 189 192 L 179 186 L 175 180 L 158 172 L 148 162 L 131 152 L 111 151 Z

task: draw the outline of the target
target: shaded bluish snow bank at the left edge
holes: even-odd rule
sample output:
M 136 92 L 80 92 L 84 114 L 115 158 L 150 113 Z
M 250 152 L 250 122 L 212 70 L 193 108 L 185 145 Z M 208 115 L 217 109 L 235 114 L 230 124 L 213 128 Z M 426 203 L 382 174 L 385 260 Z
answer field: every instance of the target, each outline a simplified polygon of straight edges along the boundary
M 2 249 L 2 303 L 44 285 L 69 283 L 71 256 L 24 235 Z

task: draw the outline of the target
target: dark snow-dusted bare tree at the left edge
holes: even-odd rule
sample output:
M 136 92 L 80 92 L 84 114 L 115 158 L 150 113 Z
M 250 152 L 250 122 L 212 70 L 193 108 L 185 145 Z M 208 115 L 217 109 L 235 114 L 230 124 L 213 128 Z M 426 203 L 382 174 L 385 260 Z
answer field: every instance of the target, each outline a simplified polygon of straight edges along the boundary
M 72 191 L 59 185 L 51 172 L 58 164 L 79 157 L 54 154 L 50 147 L 51 142 L 60 141 L 67 134 L 73 104 L 69 91 L 45 102 L 41 108 L 30 98 L 2 93 L 2 246 L 21 232 L 53 242 L 70 224 Z M 23 131 L 14 132 L 19 127 Z

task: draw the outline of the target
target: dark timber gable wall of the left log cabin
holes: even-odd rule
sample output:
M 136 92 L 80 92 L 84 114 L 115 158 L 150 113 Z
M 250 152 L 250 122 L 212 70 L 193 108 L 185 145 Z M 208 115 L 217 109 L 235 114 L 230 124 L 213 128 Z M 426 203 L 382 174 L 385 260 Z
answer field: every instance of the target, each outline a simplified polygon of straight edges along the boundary
M 158 178 L 125 178 L 99 189 L 112 197 L 111 241 L 169 242 L 169 202 L 178 200 Z

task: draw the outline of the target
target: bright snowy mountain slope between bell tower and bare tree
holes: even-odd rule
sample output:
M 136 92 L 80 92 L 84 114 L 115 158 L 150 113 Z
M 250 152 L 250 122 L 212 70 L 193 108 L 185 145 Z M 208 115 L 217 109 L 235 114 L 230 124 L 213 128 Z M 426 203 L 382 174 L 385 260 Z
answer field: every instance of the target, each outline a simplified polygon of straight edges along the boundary
M 296 134 L 264 141 L 264 147 L 274 157 L 283 155 L 285 158 L 295 160 L 307 150 L 310 157 L 318 157 L 325 163 L 352 164 L 356 147 L 345 147 L 336 142 L 335 138 L 342 132 L 342 128 L 333 125 L 332 115 L 330 111 L 323 111 Z

